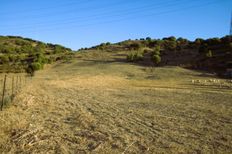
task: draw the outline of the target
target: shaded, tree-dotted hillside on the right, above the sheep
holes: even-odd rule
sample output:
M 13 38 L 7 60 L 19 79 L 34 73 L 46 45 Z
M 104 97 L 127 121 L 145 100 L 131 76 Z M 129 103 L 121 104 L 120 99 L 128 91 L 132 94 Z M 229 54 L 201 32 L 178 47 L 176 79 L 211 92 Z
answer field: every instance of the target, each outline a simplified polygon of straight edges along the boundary
M 102 43 L 80 50 L 125 51 L 129 62 L 145 66 L 182 66 L 219 75 L 225 75 L 232 68 L 232 36 L 206 40 L 198 38 L 195 41 L 175 37 L 147 37 L 115 44 Z

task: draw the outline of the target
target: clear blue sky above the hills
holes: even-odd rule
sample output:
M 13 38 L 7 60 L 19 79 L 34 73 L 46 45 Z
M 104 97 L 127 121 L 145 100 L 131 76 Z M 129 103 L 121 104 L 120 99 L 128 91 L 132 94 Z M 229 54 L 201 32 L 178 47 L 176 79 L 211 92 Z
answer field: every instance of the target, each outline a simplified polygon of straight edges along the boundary
M 102 42 L 229 34 L 232 0 L 0 0 L 0 35 L 74 50 Z

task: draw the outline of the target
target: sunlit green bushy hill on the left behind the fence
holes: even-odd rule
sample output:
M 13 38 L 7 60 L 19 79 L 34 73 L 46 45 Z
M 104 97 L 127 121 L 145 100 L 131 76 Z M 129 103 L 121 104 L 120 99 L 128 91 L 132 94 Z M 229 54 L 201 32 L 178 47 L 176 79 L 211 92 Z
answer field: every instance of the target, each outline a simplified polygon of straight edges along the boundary
M 0 36 L 0 71 L 32 73 L 44 64 L 67 59 L 72 50 L 18 36 Z

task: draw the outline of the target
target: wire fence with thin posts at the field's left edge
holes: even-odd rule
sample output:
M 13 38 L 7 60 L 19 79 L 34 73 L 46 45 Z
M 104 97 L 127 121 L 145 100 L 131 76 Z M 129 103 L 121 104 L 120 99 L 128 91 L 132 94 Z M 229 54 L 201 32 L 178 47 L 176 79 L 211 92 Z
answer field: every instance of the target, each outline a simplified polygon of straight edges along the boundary
M 15 96 L 25 87 L 28 78 L 25 74 L 5 74 L 0 77 L 0 111 L 14 100 Z

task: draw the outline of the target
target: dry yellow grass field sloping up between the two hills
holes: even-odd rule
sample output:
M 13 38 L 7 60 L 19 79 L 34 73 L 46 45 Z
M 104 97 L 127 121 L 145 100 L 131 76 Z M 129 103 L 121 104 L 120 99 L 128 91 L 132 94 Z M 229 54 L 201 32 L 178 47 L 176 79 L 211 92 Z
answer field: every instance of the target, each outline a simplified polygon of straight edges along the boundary
M 231 83 L 122 58 L 79 53 L 37 72 L 0 112 L 0 153 L 232 153 Z

